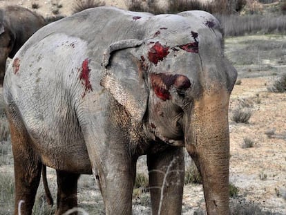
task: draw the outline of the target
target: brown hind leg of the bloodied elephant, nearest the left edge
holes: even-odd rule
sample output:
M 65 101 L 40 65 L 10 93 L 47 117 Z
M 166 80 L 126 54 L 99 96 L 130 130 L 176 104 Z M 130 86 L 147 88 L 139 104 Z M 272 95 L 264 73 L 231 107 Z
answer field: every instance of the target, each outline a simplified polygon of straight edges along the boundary
M 8 117 L 9 118 L 9 117 Z M 26 129 L 10 121 L 12 151 L 15 168 L 15 212 L 30 215 L 41 178 L 42 164 L 29 146 Z M 21 212 L 18 212 L 21 203 Z

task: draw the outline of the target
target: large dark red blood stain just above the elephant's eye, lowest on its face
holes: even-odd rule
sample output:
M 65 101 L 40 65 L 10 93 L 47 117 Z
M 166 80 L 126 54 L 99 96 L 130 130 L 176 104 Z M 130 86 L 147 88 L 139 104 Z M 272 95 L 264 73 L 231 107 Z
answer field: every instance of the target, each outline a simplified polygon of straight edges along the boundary
M 191 87 L 189 78 L 184 75 L 151 73 L 150 77 L 153 91 L 163 101 L 170 99 L 171 95 L 169 93 L 169 89 L 171 86 L 175 86 L 175 88 L 180 90 Z

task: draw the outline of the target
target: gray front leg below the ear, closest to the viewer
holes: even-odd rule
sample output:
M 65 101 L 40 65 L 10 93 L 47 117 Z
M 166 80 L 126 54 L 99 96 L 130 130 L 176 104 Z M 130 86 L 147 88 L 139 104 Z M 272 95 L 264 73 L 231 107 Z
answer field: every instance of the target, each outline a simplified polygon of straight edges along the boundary
M 104 163 L 103 169 L 97 169 L 95 178 L 102 191 L 106 214 L 132 214 L 135 162 L 126 153 L 113 153 L 104 158 Z

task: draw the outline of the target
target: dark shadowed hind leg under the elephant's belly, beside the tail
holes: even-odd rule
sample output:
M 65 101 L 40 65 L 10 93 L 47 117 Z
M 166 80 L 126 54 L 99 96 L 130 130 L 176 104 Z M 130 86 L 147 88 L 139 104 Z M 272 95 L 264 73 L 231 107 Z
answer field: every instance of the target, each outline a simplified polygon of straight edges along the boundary
M 57 170 L 57 215 L 77 207 L 78 178 L 79 174 Z

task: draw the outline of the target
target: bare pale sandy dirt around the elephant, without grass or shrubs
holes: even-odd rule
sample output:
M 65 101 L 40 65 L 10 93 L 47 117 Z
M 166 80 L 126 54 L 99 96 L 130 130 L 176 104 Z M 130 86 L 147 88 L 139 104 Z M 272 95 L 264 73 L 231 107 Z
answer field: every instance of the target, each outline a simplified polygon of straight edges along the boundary
M 39 3 L 39 12 L 44 17 L 53 14 L 61 4 L 60 15 L 70 15 L 74 3 L 68 0 L 1 0 L 0 7 L 18 4 L 27 8 Z M 124 1 L 107 0 L 106 5 L 126 8 Z M 33 9 L 35 10 L 35 9 Z M 285 37 L 284 37 L 285 39 Z M 279 72 L 285 71 L 282 67 Z M 233 109 L 244 102 L 251 110 L 249 123 L 229 120 L 230 129 L 230 182 L 238 187 L 238 199 L 258 204 L 273 214 L 286 214 L 286 94 L 267 91 L 274 75 L 260 73 L 246 77 L 238 71 L 240 85 L 233 88 L 229 118 Z M 254 141 L 254 146 L 242 147 L 244 138 Z M 3 168 L 0 168 L 3 174 Z M 184 188 L 183 214 L 193 214 L 194 209 L 204 209 L 201 185 L 187 185 Z M 149 214 L 148 208 L 139 209 Z M 140 214 L 138 212 L 138 214 Z

